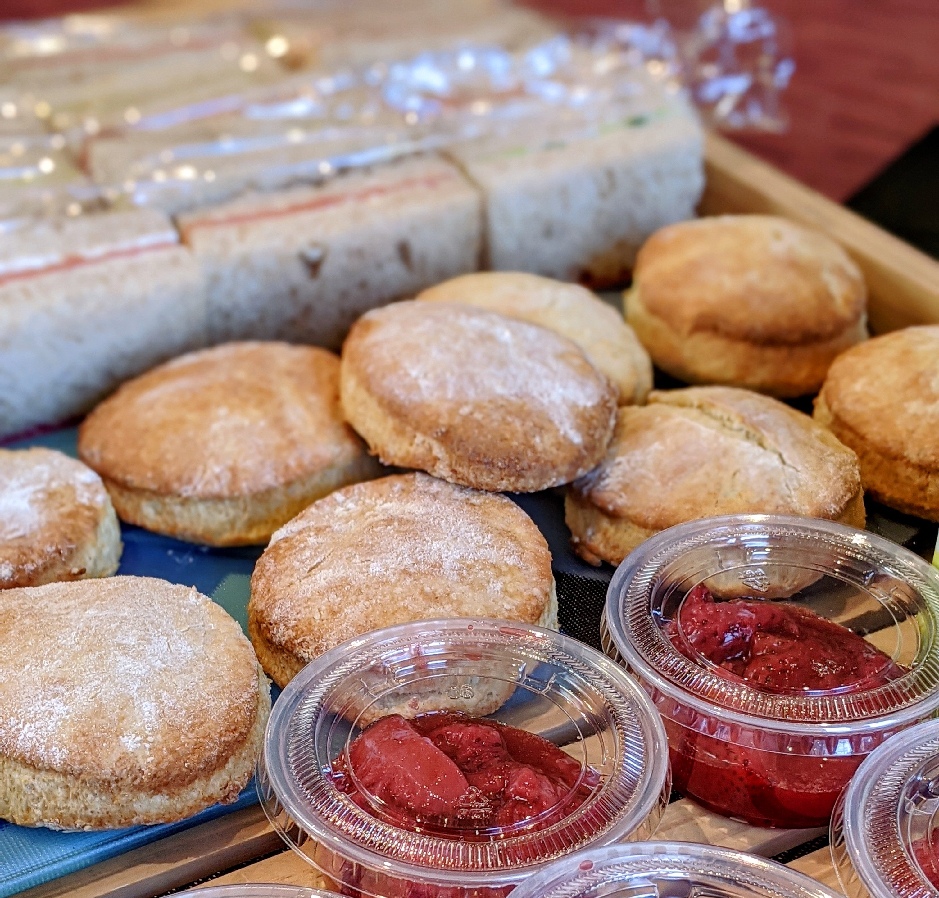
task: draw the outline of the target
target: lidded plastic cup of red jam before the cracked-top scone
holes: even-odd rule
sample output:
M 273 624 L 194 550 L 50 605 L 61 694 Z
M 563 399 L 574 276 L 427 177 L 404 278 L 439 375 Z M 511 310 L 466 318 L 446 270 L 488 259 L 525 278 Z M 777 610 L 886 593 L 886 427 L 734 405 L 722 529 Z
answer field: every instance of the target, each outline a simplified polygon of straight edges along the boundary
M 890 735 L 939 704 L 939 576 L 829 521 L 733 516 L 620 565 L 608 652 L 665 721 L 678 791 L 757 826 L 824 826 Z

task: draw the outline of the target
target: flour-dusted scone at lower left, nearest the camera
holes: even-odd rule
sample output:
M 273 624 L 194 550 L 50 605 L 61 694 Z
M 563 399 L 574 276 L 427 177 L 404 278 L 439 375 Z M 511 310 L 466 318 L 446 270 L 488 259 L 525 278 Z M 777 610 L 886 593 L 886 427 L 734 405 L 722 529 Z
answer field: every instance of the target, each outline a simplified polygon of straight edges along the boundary
M 149 577 L 0 593 L 0 817 L 170 823 L 234 801 L 270 710 L 251 644 L 192 587 Z

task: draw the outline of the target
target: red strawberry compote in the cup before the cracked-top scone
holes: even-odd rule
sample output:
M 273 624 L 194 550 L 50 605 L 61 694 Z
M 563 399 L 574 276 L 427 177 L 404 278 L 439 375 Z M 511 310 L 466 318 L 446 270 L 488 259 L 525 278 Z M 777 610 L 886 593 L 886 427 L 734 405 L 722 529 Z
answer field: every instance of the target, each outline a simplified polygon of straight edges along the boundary
M 666 633 L 686 658 L 769 692 L 870 689 L 904 672 L 875 646 L 790 602 L 692 589 Z M 758 826 L 821 826 L 861 757 L 759 751 L 666 720 L 675 788 Z

